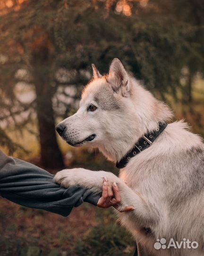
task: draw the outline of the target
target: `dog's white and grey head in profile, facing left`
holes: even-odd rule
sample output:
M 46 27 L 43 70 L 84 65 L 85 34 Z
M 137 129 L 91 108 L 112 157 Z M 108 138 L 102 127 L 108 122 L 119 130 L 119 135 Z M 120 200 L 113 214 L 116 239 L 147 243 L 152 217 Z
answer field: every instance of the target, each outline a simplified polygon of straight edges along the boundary
M 82 93 L 78 111 L 60 122 L 56 129 L 71 146 L 99 147 L 110 156 L 111 151 L 118 150 L 117 147 L 127 150 L 126 145 L 135 143 L 134 136 L 137 129 L 141 129 L 142 114 L 139 109 L 142 107 L 145 111 L 146 107 L 140 106 L 141 102 L 144 105 L 144 99 L 136 99 L 136 94 L 140 97 L 136 82 L 119 59 L 112 61 L 105 76 L 94 65 L 92 67 L 93 80 Z M 142 87 L 141 90 L 144 91 Z M 148 97 L 154 99 L 148 91 L 146 93 L 147 100 Z

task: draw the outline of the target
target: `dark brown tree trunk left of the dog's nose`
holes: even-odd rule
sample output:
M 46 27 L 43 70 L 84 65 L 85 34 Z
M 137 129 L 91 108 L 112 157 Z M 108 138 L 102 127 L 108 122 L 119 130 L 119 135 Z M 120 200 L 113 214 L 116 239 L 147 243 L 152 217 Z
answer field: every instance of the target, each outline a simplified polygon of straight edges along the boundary
M 34 86 L 37 102 L 41 163 L 47 168 L 63 168 L 63 157 L 57 143 L 54 111 L 52 108 L 52 88 L 48 72 L 37 67 L 34 71 Z

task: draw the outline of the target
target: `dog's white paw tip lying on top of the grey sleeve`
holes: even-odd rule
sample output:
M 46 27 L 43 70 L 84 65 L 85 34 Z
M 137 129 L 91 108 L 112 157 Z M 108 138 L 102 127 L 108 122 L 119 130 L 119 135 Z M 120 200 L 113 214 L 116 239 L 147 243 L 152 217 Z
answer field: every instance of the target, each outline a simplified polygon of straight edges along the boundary
M 82 169 L 83 168 L 62 170 L 54 176 L 54 182 L 65 188 L 78 185 L 79 180 L 77 180 L 77 177 L 80 175 L 79 173 L 83 171 Z

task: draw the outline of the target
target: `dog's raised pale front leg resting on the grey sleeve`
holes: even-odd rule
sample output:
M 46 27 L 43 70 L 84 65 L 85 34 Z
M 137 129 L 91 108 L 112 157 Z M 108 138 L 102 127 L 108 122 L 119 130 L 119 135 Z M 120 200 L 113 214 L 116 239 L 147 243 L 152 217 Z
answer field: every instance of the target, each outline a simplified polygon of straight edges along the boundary
M 124 209 L 128 205 L 132 205 L 135 207 L 135 210 L 123 214 L 131 214 L 134 220 L 137 220 L 136 222 L 142 225 L 148 225 L 150 222 L 152 223 L 155 216 L 153 216 L 153 212 L 148 207 L 145 200 L 129 188 L 126 183 L 119 179 L 119 177 L 112 173 L 74 168 L 58 172 L 54 177 L 54 181 L 61 184 L 63 187 L 79 185 L 84 186 L 93 192 L 102 192 L 102 182 L 104 177 L 108 179 L 110 184 L 116 182 L 119 187 L 121 203 L 118 210 Z

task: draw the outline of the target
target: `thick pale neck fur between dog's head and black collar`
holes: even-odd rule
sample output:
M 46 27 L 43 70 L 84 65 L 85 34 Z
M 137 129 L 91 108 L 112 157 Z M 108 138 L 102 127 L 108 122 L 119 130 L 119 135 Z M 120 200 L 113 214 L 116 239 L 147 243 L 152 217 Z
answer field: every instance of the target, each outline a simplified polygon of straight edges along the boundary
M 136 106 L 130 118 L 125 120 L 127 126 L 123 136 L 110 138 L 108 143 L 98 146 L 102 154 L 115 163 L 119 162 L 144 134 L 152 132 L 158 128 L 159 122 L 168 122 L 173 116 L 170 108 L 156 100 L 148 91 L 140 88 L 136 93 Z M 146 99 L 146 102 L 139 102 L 138 99 Z

